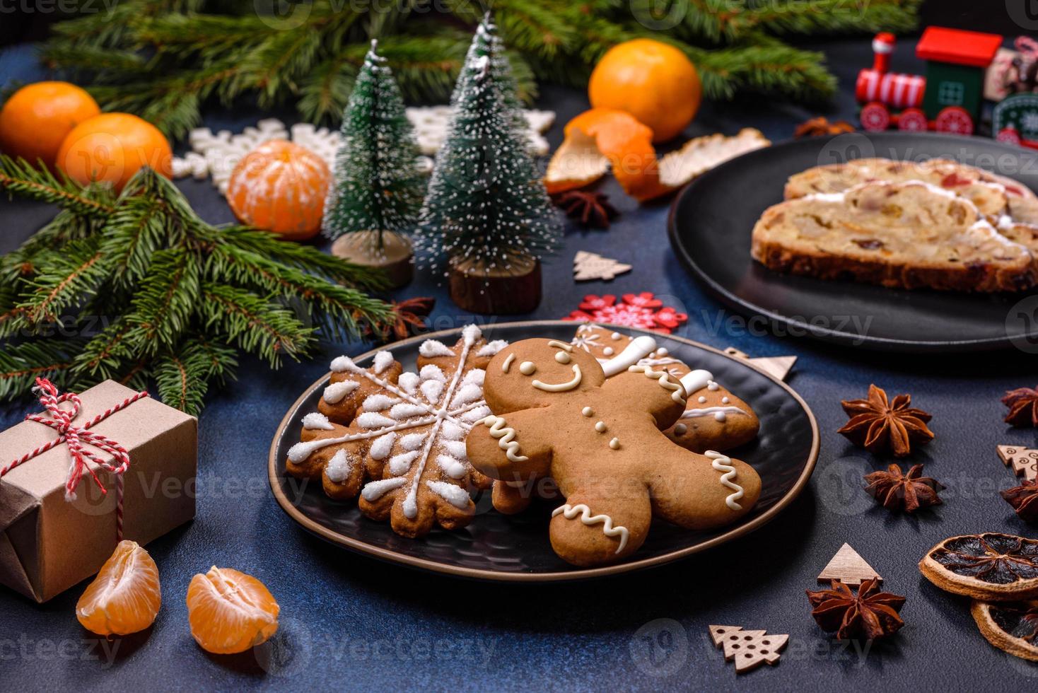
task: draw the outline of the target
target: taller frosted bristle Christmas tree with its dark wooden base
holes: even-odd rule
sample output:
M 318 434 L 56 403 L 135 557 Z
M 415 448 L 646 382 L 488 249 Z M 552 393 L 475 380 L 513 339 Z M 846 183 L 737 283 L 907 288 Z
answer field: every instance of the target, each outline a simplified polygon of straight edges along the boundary
M 489 17 L 476 31 L 452 99 L 417 245 L 467 310 L 518 313 L 541 300 L 540 257 L 562 225 L 526 142 L 514 79 Z

